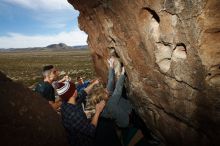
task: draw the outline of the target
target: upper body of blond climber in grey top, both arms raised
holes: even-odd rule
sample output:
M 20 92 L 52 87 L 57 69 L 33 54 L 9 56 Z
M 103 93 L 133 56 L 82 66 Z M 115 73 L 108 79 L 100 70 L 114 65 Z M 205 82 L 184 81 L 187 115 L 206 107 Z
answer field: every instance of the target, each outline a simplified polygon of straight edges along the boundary
M 119 79 L 116 85 L 114 85 L 114 59 L 111 58 L 108 62 L 110 68 L 107 88 L 98 90 L 94 96 L 92 96 L 92 99 L 94 99 L 94 101 L 99 101 L 101 100 L 100 98 L 106 100 L 107 104 L 102 113 L 102 117 L 113 118 L 119 127 L 127 127 L 129 124 L 129 114 L 132 111 L 132 105 L 128 100 L 121 98 L 125 80 L 125 68 L 122 67 Z

